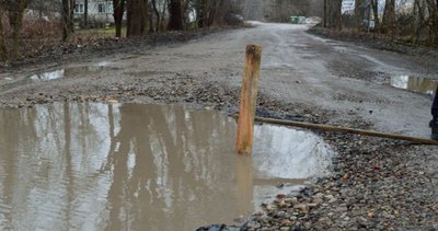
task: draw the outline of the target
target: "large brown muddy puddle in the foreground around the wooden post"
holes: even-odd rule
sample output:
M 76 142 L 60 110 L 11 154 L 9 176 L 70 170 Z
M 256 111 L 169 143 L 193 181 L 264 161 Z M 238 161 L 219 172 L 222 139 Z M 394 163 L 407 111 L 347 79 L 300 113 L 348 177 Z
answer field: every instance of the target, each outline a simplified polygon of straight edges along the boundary
M 194 230 L 231 223 L 325 174 L 312 132 L 175 105 L 54 104 L 0 111 L 0 230 Z M 286 183 L 284 187 L 276 187 Z

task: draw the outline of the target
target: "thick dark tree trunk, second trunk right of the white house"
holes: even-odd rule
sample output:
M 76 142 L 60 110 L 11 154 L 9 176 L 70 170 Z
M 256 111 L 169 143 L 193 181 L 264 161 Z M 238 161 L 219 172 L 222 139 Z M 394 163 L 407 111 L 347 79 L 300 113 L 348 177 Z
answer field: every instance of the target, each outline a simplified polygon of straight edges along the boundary
M 147 0 L 127 1 L 127 37 L 145 35 L 147 31 Z

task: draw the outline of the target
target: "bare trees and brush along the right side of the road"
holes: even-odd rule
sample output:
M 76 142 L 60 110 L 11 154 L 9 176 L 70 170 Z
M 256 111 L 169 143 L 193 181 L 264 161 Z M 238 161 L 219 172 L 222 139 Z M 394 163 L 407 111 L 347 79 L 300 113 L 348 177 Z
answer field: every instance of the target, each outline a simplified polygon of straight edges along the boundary
M 372 31 L 404 43 L 438 46 L 438 0 L 356 0 L 354 12 L 344 13 L 343 0 L 323 4 L 324 27 Z

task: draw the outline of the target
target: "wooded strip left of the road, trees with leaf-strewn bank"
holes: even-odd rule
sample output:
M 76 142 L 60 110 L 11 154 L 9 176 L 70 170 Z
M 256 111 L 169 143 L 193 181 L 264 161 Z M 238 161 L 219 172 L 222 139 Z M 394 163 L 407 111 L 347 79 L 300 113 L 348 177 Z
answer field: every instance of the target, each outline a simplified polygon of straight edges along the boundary
M 83 5 L 88 5 L 89 0 Z M 38 56 L 55 46 L 100 37 L 132 37 L 169 31 L 239 25 L 241 0 L 113 0 L 112 20 L 96 22 L 89 9 L 74 14 L 74 0 L 0 0 L 0 61 Z M 114 20 L 113 20 L 114 19 Z M 3 66 L 3 65 L 1 65 Z

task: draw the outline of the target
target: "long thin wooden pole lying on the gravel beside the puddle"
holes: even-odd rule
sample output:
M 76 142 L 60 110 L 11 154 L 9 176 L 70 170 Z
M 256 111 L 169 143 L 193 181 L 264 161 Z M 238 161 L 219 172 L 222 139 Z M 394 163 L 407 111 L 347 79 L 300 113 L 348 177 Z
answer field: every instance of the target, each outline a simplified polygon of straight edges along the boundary
M 237 116 L 238 115 L 235 115 L 234 117 L 237 117 Z M 385 132 L 380 132 L 380 131 L 336 127 L 336 126 L 331 126 L 331 125 L 310 124 L 310 123 L 302 123 L 302 122 L 290 122 L 290 120 L 281 120 L 281 119 L 274 119 L 274 118 L 263 118 L 263 117 L 255 117 L 254 119 L 256 122 L 267 123 L 267 124 L 310 128 L 310 129 L 318 129 L 318 130 L 324 130 L 324 131 L 356 134 L 356 135 L 361 135 L 361 136 L 380 137 L 380 138 L 396 139 L 396 140 L 406 140 L 406 141 L 412 141 L 417 145 L 438 146 L 438 140 L 419 138 L 419 137 L 410 137 L 410 136 L 403 136 L 403 135 L 397 135 L 397 134 L 385 134 Z

